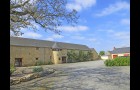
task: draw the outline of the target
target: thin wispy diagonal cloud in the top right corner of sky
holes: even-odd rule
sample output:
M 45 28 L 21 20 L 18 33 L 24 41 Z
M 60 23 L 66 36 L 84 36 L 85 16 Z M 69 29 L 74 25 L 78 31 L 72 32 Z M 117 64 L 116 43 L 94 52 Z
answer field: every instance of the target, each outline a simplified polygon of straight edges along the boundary
M 106 16 L 106 15 L 110 15 L 112 13 L 118 12 L 120 10 L 123 9 L 130 9 L 130 4 L 127 2 L 117 2 L 115 4 L 111 4 L 109 7 L 104 8 L 103 11 L 101 11 L 100 13 L 95 14 L 95 16 Z

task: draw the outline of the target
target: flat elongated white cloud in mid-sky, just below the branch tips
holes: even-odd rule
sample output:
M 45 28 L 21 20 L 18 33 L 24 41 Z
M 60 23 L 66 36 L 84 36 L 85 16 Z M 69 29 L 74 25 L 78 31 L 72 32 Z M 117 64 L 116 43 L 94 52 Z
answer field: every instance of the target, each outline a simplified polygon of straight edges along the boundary
M 60 26 L 58 29 L 66 32 L 78 32 L 78 31 L 86 31 L 88 30 L 87 26 Z

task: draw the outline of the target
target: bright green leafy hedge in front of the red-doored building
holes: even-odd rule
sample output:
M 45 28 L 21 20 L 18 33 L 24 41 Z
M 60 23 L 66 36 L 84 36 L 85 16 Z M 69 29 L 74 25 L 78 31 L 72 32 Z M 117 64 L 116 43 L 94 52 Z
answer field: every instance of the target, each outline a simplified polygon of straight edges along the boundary
M 130 57 L 117 57 L 104 62 L 106 66 L 130 66 Z

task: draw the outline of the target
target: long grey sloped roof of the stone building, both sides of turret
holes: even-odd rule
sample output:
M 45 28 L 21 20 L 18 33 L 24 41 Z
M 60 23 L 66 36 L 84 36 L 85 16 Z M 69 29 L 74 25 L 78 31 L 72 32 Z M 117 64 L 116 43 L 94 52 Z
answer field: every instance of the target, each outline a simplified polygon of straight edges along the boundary
M 54 41 L 47 40 L 36 40 L 29 38 L 20 38 L 20 37 L 10 37 L 10 45 L 16 46 L 34 46 L 34 47 L 53 47 L 55 45 Z M 65 49 L 80 49 L 80 50 L 90 50 L 86 45 L 72 44 L 57 42 L 57 45 Z

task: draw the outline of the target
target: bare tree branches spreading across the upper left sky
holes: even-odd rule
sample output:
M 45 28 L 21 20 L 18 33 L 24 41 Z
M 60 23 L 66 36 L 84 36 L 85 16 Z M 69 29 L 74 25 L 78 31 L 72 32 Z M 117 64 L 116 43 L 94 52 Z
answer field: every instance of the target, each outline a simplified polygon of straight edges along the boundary
M 21 35 L 21 28 L 36 29 L 36 23 L 45 31 L 60 34 L 58 26 L 74 25 L 79 17 L 76 10 L 68 11 L 66 4 L 66 0 L 10 0 L 10 32 Z

